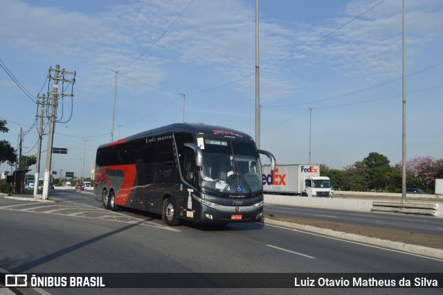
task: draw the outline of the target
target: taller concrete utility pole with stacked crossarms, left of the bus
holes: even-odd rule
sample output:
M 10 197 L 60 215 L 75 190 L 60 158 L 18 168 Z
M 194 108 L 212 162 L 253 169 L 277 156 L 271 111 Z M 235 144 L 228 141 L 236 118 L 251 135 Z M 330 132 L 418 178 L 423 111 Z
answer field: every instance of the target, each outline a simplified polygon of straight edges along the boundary
M 54 77 L 51 78 L 51 71 L 54 71 Z M 62 75 L 60 75 L 60 72 Z M 46 150 L 46 167 L 44 170 L 44 182 L 43 182 L 43 193 L 42 193 L 42 199 L 48 199 L 48 190 L 49 190 L 49 179 L 51 177 L 51 160 L 52 160 L 52 154 L 53 154 L 53 141 L 54 141 L 54 132 L 55 132 L 55 119 L 57 114 L 57 100 L 60 97 L 64 96 L 73 96 L 73 94 L 65 94 L 64 89 L 62 87 L 62 92 L 58 93 L 58 86 L 59 82 L 71 82 L 72 84 L 75 83 L 75 71 L 69 72 L 65 71 L 64 69 L 60 70 L 60 65 L 55 65 L 55 70 L 52 68 L 49 69 L 50 73 L 50 79 L 54 80 L 53 84 L 53 92 L 48 93 L 48 100 L 51 99 L 51 116 L 49 117 L 49 134 L 48 134 L 48 148 Z M 66 80 L 64 78 L 65 74 L 72 74 L 73 79 L 72 80 Z

